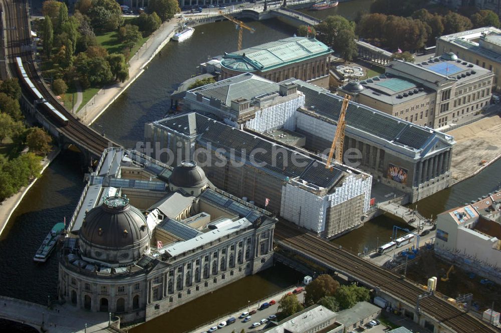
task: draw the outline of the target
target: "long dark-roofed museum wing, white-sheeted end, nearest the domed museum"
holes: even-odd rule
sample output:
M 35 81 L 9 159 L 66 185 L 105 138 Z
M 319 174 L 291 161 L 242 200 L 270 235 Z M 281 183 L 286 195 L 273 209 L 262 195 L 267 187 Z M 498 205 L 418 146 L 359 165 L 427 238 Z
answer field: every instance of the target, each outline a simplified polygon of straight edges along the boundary
M 318 157 L 199 113 L 146 124 L 145 138 L 176 159 L 199 161 L 216 187 L 325 237 L 360 226 L 369 209 L 370 175 L 326 169 Z

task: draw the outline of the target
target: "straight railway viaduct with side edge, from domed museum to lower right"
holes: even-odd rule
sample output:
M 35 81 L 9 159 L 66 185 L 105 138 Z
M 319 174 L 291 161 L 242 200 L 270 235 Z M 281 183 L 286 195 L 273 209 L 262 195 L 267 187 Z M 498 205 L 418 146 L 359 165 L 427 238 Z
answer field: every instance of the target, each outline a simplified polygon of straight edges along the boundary
M 390 301 L 393 309 L 400 310 L 435 333 L 497 332 L 488 323 L 436 294 L 421 299 L 418 308 L 418 296 L 424 293 L 421 287 L 297 226 L 281 222 L 274 233 L 275 242 L 284 250 L 374 289 L 377 295 Z

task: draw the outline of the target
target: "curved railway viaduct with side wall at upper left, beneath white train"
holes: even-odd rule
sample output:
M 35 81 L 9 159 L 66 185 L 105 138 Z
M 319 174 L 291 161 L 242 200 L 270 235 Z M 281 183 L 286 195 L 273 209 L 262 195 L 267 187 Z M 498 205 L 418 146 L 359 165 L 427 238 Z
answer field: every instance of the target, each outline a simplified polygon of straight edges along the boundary
M 38 69 L 35 66 L 31 48 L 31 25 L 28 4 L 26 1 L 14 2 L 13 0 L 3 0 L 4 26 L 15 27 L 16 29 L 4 30 L 5 53 L 7 70 L 11 77 L 18 77 L 22 88 L 21 105 L 40 122 L 57 140 L 61 148 L 76 146 L 84 156 L 84 162 L 88 163 L 92 159 L 98 159 L 105 148 L 109 146 L 119 146 L 117 143 L 107 139 L 92 128 L 84 125 L 75 116 L 60 104 L 58 99 L 46 87 Z M 50 102 L 59 112 L 69 119 L 68 124 L 60 124 L 54 116 L 38 103 L 38 98 L 33 94 L 33 90 L 28 87 L 22 77 L 20 77 L 16 57 L 21 57 L 24 68 L 32 80 L 33 84 L 43 95 L 44 100 Z

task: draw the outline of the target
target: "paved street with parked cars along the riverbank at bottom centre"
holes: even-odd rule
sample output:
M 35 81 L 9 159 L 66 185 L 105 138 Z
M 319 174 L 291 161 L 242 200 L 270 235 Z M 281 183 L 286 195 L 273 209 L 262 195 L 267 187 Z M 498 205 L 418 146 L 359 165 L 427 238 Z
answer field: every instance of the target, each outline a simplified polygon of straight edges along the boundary
M 229 317 L 235 317 L 236 321 L 234 323 L 230 324 L 230 325 L 227 325 L 226 327 L 218 329 L 217 333 L 231 333 L 233 330 L 235 332 L 240 332 L 242 330 L 242 328 L 245 329 L 246 332 L 247 331 L 257 331 L 257 330 L 260 330 L 260 327 L 252 328 L 251 325 L 254 322 L 259 322 L 263 318 L 268 318 L 269 315 L 276 314 L 278 312 L 278 306 L 279 306 L 278 301 L 282 298 L 283 295 L 285 295 L 286 293 L 288 293 L 288 292 L 290 292 L 292 290 L 293 289 L 287 290 L 285 292 L 281 292 L 279 294 L 275 294 L 275 295 L 272 295 L 271 297 L 269 297 L 267 299 L 267 301 L 274 299 L 274 300 L 277 301 L 277 303 L 275 305 L 270 306 L 267 309 L 258 310 L 258 312 L 256 314 L 252 314 L 251 315 L 252 318 L 249 321 L 247 321 L 247 322 L 242 322 L 243 319 L 239 319 L 238 318 L 238 316 L 240 315 L 241 312 L 235 312 L 235 313 L 233 313 L 231 315 L 228 315 L 225 318 L 221 318 L 220 320 L 214 321 L 214 323 L 212 323 L 210 325 L 200 327 L 199 329 L 196 329 L 193 332 L 206 332 L 210 327 L 217 326 L 217 324 L 219 324 L 219 322 L 221 322 L 223 320 L 226 320 Z M 300 302 L 303 302 L 304 295 L 305 295 L 304 292 L 298 294 L 298 300 Z M 262 303 L 251 304 L 248 307 L 248 310 L 257 309 L 261 304 Z M 245 309 L 245 311 L 248 311 L 248 310 Z

